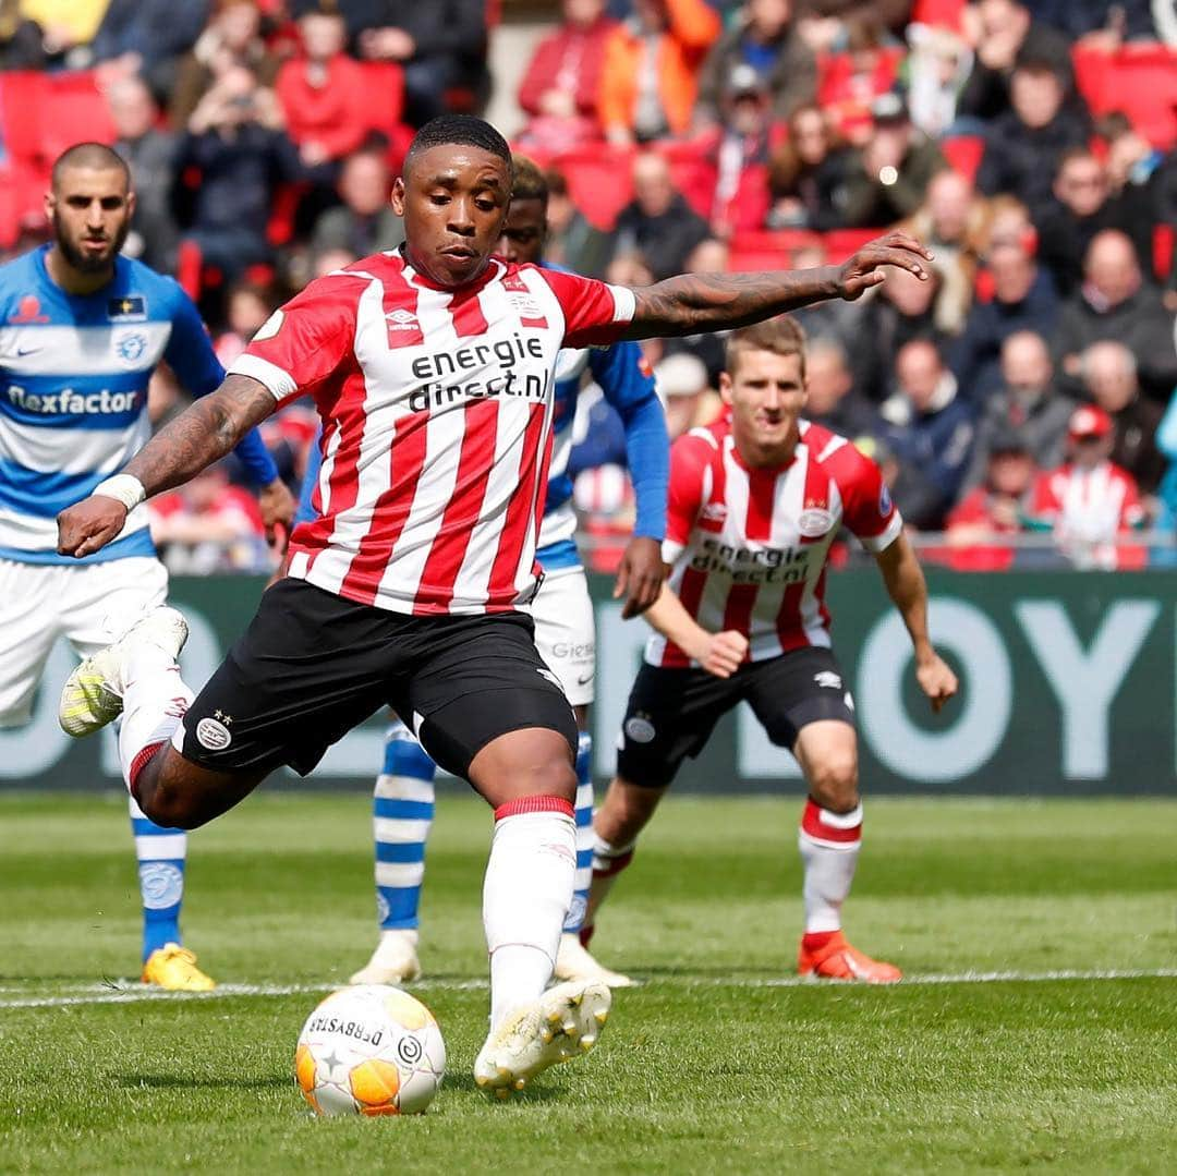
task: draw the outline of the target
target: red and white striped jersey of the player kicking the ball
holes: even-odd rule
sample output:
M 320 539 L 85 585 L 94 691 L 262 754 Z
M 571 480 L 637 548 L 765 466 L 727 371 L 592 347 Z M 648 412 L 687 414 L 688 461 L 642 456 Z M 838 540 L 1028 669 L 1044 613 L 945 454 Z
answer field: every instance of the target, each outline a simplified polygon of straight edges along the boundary
M 290 574 L 394 612 L 503 612 L 536 580 L 560 347 L 617 339 L 632 291 L 492 259 L 443 290 L 395 252 L 311 283 L 231 371 L 322 418 L 319 518 Z

